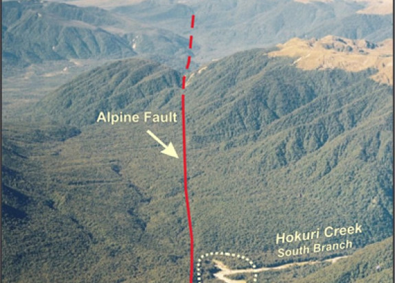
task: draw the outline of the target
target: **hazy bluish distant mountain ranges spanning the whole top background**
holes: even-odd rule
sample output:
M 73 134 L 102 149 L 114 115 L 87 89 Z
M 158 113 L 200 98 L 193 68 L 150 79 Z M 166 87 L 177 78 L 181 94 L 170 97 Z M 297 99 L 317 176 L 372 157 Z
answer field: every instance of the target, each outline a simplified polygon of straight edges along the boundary
M 3 63 L 139 55 L 181 68 L 182 58 L 192 54 L 187 39 L 192 13 L 198 23 L 193 31 L 197 63 L 293 37 L 391 38 L 392 15 L 357 13 L 364 7 L 355 1 L 157 0 L 102 10 L 54 1 L 5 1 Z

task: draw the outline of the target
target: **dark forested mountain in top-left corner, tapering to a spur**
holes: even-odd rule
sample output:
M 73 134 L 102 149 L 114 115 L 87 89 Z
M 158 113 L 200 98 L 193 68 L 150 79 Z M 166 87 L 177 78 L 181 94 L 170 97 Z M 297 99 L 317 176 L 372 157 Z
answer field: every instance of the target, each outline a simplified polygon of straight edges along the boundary
M 101 25 L 119 23 L 98 8 L 62 3 L 3 3 L 3 62 L 12 65 L 69 58 L 122 58 L 135 52 Z

